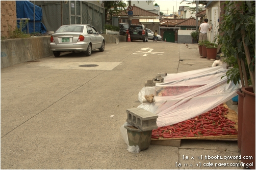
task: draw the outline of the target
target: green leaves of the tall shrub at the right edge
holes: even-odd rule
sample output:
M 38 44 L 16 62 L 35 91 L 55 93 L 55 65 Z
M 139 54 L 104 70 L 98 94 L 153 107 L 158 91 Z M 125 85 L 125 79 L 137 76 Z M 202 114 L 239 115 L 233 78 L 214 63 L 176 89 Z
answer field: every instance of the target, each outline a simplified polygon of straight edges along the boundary
M 255 1 L 226 1 L 224 4 L 225 14 L 219 25 L 218 45 L 224 47 L 224 56 L 234 62 L 235 68 L 238 68 L 238 57 L 244 61 L 247 75 L 250 75 L 249 72 L 255 73 Z M 242 31 L 245 32 L 244 42 L 251 58 L 249 67 L 242 42 Z M 237 80 L 241 78 L 237 72 L 235 69 L 227 72 L 228 80 L 239 82 Z M 248 78 L 250 79 L 250 76 Z

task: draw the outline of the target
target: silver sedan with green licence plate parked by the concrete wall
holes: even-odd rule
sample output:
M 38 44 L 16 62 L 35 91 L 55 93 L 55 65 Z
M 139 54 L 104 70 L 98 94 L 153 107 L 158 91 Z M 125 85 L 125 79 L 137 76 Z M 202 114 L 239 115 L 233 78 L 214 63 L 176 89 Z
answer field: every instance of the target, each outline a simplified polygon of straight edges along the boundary
M 50 49 L 56 57 L 66 51 L 85 52 L 90 56 L 92 50 L 105 50 L 105 40 L 100 34 L 88 24 L 62 25 L 50 36 Z

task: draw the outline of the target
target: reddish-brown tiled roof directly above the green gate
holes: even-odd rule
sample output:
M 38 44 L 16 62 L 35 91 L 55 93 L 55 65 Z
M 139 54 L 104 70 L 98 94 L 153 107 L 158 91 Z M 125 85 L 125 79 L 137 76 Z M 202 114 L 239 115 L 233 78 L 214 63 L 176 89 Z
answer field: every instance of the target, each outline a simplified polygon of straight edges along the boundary
M 162 23 L 162 24 L 161 24 Z M 195 18 L 187 18 L 187 19 L 162 19 L 160 21 L 161 26 L 196 26 Z M 198 22 L 198 26 L 200 23 Z

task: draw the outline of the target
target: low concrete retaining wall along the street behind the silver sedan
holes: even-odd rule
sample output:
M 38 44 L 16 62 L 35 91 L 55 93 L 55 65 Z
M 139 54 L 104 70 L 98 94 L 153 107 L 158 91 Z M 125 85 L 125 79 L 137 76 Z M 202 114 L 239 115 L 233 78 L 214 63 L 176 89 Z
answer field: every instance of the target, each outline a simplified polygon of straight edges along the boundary
M 125 36 L 102 35 L 106 43 L 125 42 Z M 1 41 L 1 69 L 53 55 L 49 47 L 50 36 Z

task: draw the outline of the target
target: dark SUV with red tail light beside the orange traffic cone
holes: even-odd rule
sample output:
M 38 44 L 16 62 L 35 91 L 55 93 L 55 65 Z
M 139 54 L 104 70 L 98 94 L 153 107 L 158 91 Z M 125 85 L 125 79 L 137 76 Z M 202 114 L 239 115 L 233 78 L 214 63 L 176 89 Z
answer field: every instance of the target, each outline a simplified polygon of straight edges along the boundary
M 147 41 L 147 31 L 143 24 L 131 24 L 129 29 L 126 32 L 126 42 L 130 34 L 131 41 L 133 40 L 142 40 L 143 42 Z

